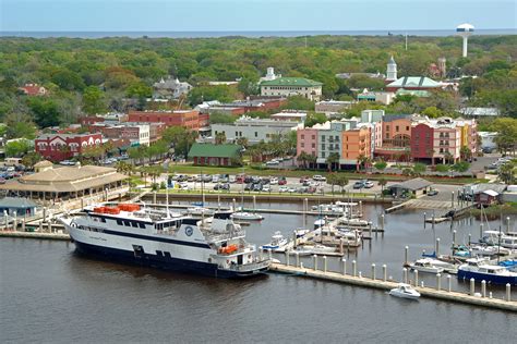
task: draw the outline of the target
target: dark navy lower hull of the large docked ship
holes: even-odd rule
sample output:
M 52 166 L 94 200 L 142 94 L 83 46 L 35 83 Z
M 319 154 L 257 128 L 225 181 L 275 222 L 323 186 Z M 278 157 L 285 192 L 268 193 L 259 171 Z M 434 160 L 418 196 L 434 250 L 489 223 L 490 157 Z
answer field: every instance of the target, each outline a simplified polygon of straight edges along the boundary
M 124 249 L 96 246 L 81 243 L 74 239 L 76 250 L 85 256 L 95 257 L 107 261 L 117 261 L 140 267 L 156 268 L 175 272 L 202 274 L 220 279 L 239 279 L 263 274 L 267 268 L 252 271 L 233 271 L 219 269 L 216 263 L 201 262 L 194 260 L 179 259 L 173 257 L 160 257 L 142 253 L 135 256 L 134 251 Z

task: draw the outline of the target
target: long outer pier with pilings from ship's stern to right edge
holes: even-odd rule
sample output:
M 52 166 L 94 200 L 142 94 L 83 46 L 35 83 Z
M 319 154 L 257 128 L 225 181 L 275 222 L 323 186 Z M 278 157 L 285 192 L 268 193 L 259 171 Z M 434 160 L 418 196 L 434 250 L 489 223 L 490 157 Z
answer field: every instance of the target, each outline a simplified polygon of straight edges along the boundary
M 306 278 L 312 278 L 312 279 L 317 279 L 317 280 L 323 280 L 323 281 L 333 281 L 333 282 L 345 283 L 345 284 L 350 284 L 350 285 L 377 288 L 377 290 L 383 290 L 383 291 L 389 291 L 398 286 L 398 282 L 388 281 L 386 279 L 385 267 L 383 267 L 384 274 L 380 278 L 375 277 L 374 266 L 372 267 L 372 274 L 370 277 L 364 277 L 364 275 L 361 277 L 357 273 L 356 270 L 352 270 L 351 274 L 347 274 L 346 270 L 344 270 L 341 273 L 326 271 L 325 258 L 323 258 L 323 267 L 321 267 L 320 270 L 317 269 L 317 263 L 315 265 L 315 267 L 316 268 L 314 269 L 314 268 L 304 268 L 303 266 L 294 267 L 294 266 L 282 265 L 282 263 L 273 263 L 270 267 L 270 271 L 279 272 L 279 273 L 288 273 L 288 274 L 298 275 L 298 277 L 306 277 Z M 450 278 L 447 277 L 446 279 L 450 279 Z M 484 295 L 483 297 L 483 294 L 481 294 L 482 296 L 477 296 L 477 294 L 474 293 L 470 295 L 470 294 L 454 292 L 449 290 L 448 285 L 445 285 L 445 287 L 443 287 L 443 285 L 441 285 L 441 282 L 437 283 L 436 287 L 416 286 L 414 288 L 422 295 L 422 297 L 437 298 L 437 299 L 443 299 L 443 300 L 448 300 L 448 302 L 454 302 L 454 303 L 482 306 L 482 307 L 489 307 L 489 308 L 517 312 L 517 302 L 509 300 L 510 293 L 508 288 L 506 293 L 506 299 L 491 298 L 491 297 L 486 297 L 486 295 Z

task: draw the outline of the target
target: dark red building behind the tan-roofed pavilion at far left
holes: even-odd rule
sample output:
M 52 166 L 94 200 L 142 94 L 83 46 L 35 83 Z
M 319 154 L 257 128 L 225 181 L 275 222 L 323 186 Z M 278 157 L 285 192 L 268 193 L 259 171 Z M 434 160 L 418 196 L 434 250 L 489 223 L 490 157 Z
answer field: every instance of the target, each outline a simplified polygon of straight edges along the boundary
M 80 156 L 84 149 L 101 144 L 100 134 L 46 134 L 34 142 L 36 151 L 51 161 Z

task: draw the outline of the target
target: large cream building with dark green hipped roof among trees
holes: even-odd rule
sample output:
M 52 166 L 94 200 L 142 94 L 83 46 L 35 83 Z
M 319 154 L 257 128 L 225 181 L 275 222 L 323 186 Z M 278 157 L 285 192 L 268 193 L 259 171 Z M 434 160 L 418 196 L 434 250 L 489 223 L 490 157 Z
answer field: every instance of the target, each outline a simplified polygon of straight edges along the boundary
M 322 83 L 304 77 L 279 77 L 261 84 L 262 96 L 302 96 L 318 101 L 322 97 Z

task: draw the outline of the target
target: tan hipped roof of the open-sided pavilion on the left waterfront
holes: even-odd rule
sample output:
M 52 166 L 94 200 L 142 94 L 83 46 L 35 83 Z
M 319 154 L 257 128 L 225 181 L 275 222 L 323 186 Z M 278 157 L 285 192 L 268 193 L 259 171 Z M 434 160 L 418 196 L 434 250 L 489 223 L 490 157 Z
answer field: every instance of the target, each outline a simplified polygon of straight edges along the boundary
M 123 181 L 127 177 L 112 168 L 95 165 L 63 167 L 24 175 L 19 180 L 9 180 L 5 184 L 0 185 L 0 189 L 70 193 L 104 186 Z

